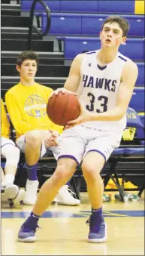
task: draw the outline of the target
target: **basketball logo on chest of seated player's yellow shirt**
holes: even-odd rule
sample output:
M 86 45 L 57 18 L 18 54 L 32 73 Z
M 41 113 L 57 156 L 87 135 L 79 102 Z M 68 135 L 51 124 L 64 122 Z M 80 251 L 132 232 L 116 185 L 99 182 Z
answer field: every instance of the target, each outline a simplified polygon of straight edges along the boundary
M 39 118 L 46 115 L 46 107 L 47 103 L 42 97 L 32 94 L 26 100 L 24 110 L 29 116 Z

